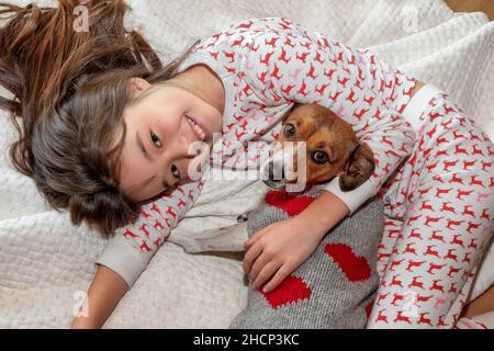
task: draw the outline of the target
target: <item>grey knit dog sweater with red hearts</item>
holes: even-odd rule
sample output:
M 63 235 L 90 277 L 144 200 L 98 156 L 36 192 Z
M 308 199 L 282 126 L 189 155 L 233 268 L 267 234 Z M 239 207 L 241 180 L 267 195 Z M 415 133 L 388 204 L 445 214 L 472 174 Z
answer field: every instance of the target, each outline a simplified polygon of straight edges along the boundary
M 269 191 L 248 215 L 249 237 L 297 215 L 323 189 Z M 371 199 L 333 228 L 277 288 L 263 294 L 249 287 L 247 306 L 229 328 L 364 328 L 379 284 L 375 264 L 383 226 L 383 204 Z

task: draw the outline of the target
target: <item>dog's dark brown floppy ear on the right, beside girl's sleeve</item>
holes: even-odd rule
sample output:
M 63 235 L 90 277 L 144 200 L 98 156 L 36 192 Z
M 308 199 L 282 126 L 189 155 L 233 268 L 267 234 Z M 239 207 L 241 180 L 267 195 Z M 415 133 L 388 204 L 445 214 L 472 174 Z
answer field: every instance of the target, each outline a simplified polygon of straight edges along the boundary
M 347 161 L 346 171 L 339 178 L 339 188 L 350 191 L 363 184 L 375 169 L 372 150 L 366 143 L 359 144 Z

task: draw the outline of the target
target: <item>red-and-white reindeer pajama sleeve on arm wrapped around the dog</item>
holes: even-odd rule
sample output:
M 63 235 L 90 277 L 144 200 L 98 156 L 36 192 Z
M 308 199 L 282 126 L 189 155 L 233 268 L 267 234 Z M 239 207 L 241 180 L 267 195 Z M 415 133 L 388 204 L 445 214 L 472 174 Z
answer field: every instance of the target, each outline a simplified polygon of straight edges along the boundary
M 329 107 L 374 154 L 374 173 L 356 190 L 343 192 L 339 178 L 327 184 L 326 190 L 353 213 L 412 152 L 415 135 L 401 111 L 415 80 L 369 52 L 307 33 L 284 19 L 268 22 L 270 30 L 255 38 L 248 57 L 252 90 L 273 105 L 296 102 Z

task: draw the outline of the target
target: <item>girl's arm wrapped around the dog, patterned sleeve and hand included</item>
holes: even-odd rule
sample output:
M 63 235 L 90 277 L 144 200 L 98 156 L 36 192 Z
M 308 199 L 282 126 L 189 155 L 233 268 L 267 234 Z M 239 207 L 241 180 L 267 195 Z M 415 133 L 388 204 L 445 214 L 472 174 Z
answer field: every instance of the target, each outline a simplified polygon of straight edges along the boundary
M 372 149 L 377 167 L 358 189 L 343 192 L 339 179 L 297 216 L 259 230 L 244 270 L 255 287 L 274 288 L 313 252 L 335 224 L 375 195 L 389 176 L 411 155 L 415 134 L 401 112 L 416 80 L 368 52 L 332 42 L 284 19 L 267 20 L 247 61 L 252 90 L 273 105 L 318 103 L 352 125 Z M 329 195 L 330 194 L 330 195 Z M 273 275 L 276 273 L 276 275 Z

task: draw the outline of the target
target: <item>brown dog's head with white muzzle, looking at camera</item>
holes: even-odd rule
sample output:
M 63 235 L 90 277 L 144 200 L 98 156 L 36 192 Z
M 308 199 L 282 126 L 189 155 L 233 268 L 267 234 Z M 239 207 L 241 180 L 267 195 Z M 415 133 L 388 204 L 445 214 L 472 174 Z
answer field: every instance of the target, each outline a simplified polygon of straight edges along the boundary
M 301 150 L 305 157 L 299 155 Z M 318 104 L 294 104 L 282 118 L 282 129 L 271 154 L 262 171 L 265 183 L 276 189 L 299 182 L 303 169 L 299 166 L 305 166 L 305 184 L 340 176 L 343 191 L 360 186 L 375 168 L 372 150 L 358 139 L 351 126 Z M 291 177 L 285 177 L 288 169 Z

